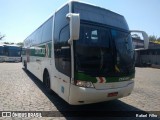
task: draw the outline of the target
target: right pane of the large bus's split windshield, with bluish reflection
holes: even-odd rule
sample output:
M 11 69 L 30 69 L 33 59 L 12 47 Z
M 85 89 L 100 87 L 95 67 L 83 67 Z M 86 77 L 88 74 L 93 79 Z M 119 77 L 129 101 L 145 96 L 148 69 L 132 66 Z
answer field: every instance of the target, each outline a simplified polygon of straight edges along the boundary
M 111 34 L 116 48 L 117 74 L 133 73 L 135 54 L 130 33 L 112 29 Z

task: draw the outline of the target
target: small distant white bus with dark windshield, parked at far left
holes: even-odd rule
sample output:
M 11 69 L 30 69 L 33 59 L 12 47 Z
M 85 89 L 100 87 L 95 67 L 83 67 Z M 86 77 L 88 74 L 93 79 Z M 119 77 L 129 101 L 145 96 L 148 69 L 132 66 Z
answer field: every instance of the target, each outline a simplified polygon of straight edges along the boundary
M 5 62 L 21 62 L 21 51 L 21 46 L 4 45 Z

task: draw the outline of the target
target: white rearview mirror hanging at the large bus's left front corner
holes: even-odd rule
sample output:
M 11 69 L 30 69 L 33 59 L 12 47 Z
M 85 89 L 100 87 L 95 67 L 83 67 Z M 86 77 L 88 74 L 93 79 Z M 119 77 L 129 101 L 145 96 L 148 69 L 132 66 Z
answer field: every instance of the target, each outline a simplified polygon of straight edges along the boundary
M 80 15 L 77 13 L 68 13 L 66 15 L 70 25 L 70 41 L 79 39 Z

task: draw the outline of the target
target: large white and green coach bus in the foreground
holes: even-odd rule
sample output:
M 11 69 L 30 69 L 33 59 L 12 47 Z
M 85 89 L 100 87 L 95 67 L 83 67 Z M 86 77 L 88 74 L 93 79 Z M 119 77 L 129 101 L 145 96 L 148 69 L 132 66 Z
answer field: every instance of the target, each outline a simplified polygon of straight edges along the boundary
M 125 18 L 86 3 L 65 4 L 29 35 L 22 62 L 72 105 L 125 97 L 134 87 L 134 48 Z

